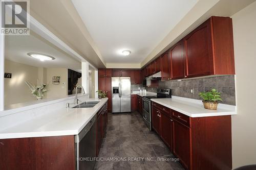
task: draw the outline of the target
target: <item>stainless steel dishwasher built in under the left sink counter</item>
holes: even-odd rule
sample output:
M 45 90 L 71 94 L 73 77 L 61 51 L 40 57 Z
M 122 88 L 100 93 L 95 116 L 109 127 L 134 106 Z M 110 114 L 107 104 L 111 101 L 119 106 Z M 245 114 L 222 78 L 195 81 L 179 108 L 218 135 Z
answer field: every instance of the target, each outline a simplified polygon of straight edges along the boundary
M 94 168 L 96 158 L 96 118 L 97 114 L 78 135 L 75 135 L 76 166 L 78 170 L 91 170 Z

